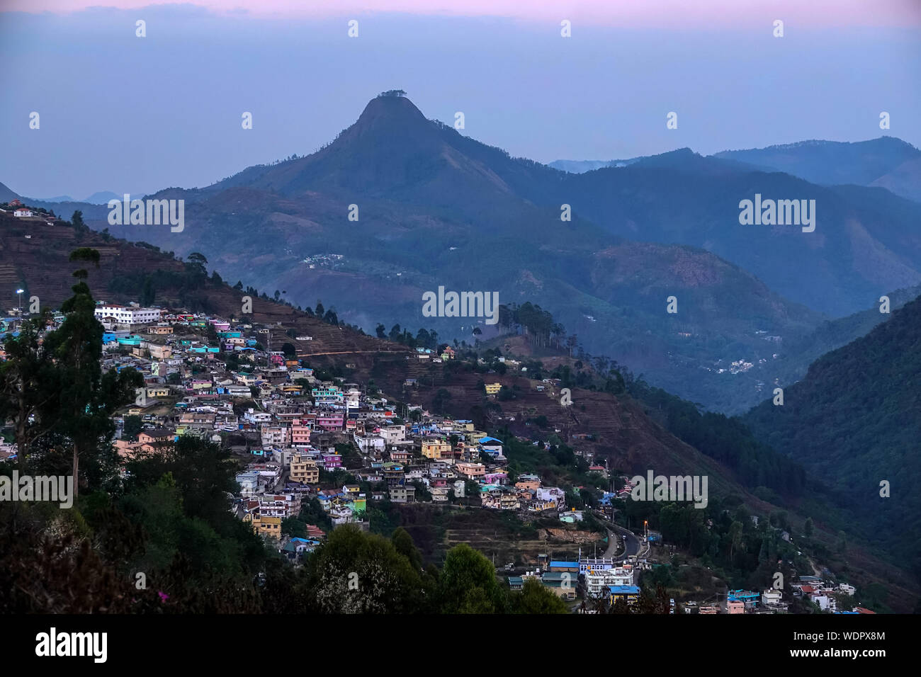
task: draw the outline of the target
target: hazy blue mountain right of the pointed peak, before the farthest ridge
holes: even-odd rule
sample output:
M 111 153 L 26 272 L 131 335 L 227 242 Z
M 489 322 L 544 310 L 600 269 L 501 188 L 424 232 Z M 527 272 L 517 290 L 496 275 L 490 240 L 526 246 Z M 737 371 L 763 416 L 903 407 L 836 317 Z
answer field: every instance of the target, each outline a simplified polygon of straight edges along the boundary
M 784 297 L 833 316 L 921 284 L 921 204 L 880 189 L 824 187 L 721 162 L 675 151 L 624 169 L 567 174 L 565 201 L 621 237 L 712 251 Z M 740 225 L 739 204 L 755 195 L 815 200 L 815 231 Z

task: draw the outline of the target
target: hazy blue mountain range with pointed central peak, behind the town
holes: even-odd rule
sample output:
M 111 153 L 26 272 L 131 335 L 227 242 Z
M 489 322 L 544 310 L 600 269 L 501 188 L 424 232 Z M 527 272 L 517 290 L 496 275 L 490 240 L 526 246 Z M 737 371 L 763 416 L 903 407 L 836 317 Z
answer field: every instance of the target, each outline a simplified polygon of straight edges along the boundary
M 895 139 L 866 143 L 910 155 Z M 803 158 L 813 146 L 803 147 L 799 166 L 818 171 L 821 158 L 810 164 Z M 590 353 L 738 412 L 805 369 L 787 345 L 921 284 L 921 204 L 759 169 L 766 162 L 682 149 L 566 173 L 510 158 L 389 96 L 308 157 L 150 196 L 186 201 L 182 233 L 111 227 L 106 207 L 76 208 L 118 237 L 201 251 L 231 283 L 284 289 L 296 305 L 322 298 L 367 331 L 398 321 L 470 337 L 470 319 L 422 315 L 423 293 L 438 286 L 536 302 Z M 815 232 L 740 225 L 740 200 L 755 193 L 816 200 Z M 350 204 L 357 221 L 348 220 Z M 561 221 L 563 204 L 570 222 Z M 73 205 L 60 206 L 52 208 L 69 215 Z M 677 314 L 666 312 L 670 296 Z

